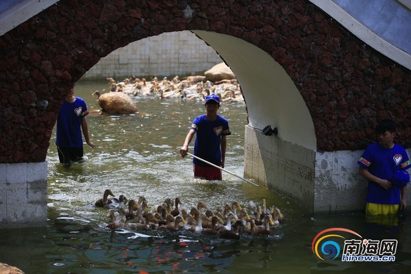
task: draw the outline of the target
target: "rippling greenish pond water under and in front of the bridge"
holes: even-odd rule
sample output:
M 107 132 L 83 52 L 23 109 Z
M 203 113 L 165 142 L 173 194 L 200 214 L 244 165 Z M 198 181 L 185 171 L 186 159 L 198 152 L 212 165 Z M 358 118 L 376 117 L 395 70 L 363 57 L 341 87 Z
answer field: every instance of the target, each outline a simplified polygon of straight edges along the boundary
M 223 181 L 192 177 L 192 164 L 178 154 L 192 120 L 203 103 L 134 97 L 133 115 L 99 114 L 94 90 L 104 82 L 79 82 L 75 95 L 88 103 L 92 142 L 84 147 L 86 162 L 64 169 L 58 163 L 55 135 L 47 161 L 48 225 L 46 228 L 5 229 L 0 234 L 0 262 L 25 273 L 408 273 L 411 266 L 409 220 L 396 227 L 367 224 L 362 212 L 310 214 L 284 195 L 256 187 L 228 173 Z M 224 103 L 219 113 L 229 120 L 225 169 L 242 176 L 244 103 Z M 192 144 L 190 146 L 192 151 Z M 215 210 L 238 201 L 266 199 L 286 216 L 272 236 L 242 234 L 221 240 L 191 232 L 139 232 L 108 229 L 108 210 L 94 202 L 110 188 L 117 197 L 146 197 L 149 206 L 180 197 L 182 208 L 206 202 Z M 24 205 L 29 206 L 29 205 Z M 312 253 L 314 236 L 323 229 L 345 227 L 369 238 L 396 238 L 395 262 L 320 260 Z M 345 234 L 347 237 L 347 234 Z M 349 235 L 348 235 L 349 236 Z

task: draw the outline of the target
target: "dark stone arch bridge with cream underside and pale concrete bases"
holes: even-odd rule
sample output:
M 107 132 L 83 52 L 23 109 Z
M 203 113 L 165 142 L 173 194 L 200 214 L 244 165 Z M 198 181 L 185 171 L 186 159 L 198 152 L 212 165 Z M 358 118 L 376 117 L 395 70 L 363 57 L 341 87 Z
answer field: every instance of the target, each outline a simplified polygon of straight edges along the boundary
M 240 82 L 245 177 L 312 212 L 362 210 L 356 161 L 377 121 L 399 123 L 397 142 L 411 147 L 411 73 L 312 2 L 63 0 L 5 32 L 0 228 L 45 225 L 45 159 L 73 83 L 119 47 L 182 30 L 212 46 Z M 264 136 L 266 125 L 278 134 Z

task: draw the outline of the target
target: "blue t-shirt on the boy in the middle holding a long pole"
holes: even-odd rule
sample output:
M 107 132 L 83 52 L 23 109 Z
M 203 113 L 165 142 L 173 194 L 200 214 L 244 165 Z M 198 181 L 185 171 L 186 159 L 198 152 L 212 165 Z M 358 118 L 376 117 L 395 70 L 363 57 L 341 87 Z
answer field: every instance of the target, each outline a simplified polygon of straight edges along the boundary
M 221 166 L 221 136 L 231 134 L 227 119 L 217 115 L 215 121 L 209 121 L 206 114 L 203 114 L 194 119 L 190 128 L 196 131 L 194 155 Z M 196 158 L 193 158 L 192 162 L 199 166 L 208 166 Z

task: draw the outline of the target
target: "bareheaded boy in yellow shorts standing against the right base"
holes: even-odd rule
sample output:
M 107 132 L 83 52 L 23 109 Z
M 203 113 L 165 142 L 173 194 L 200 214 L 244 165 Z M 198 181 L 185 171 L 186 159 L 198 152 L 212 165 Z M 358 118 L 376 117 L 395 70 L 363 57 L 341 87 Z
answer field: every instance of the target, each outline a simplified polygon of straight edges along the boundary
M 381 121 L 376 131 L 379 142 L 369 145 L 358 160 L 358 172 L 369 181 L 366 214 L 396 214 L 406 210 L 406 185 L 399 188 L 391 179 L 410 168 L 411 162 L 406 150 L 394 143 L 397 125 L 393 121 Z

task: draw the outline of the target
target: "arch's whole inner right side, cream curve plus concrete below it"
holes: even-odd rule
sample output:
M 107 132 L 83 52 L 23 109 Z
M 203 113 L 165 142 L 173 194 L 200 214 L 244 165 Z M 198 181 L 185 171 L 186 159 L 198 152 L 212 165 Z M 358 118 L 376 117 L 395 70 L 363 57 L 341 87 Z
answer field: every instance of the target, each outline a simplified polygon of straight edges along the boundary
M 242 144 L 245 161 L 238 162 L 245 165 L 245 177 L 254 178 L 262 186 L 285 192 L 292 199 L 306 203 L 304 199 L 307 195 L 312 196 L 314 189 L 312 170 L 315 160 L 312 151 L 316 147 L 316 138 L 310 113 L 295 84 L 282 66 L 258 47 L 225 34 L 192 32 L 219 53 L 240 82 L 249 116 L 248 125 L 240 133 L 244 136 L 249 132 Z M 126 62 L 127 57 L 122 58 Z M 134 73 L 125 72 L 123 75 Z M 175 71 L 166 75 L 173 74 Z M 113 74 L 105 74 L 105 77 L 110 75 Z M 149 75 L 156 76 L 156 73 Z M 263 136 L 262 128 L 266 125 L 277 127 L 279 134 Z M 251 134 L 256 136 L 251 137 Z M 300 154 L 306 156 L 301 159 Z M 293 167 L 284 164 L 286 162 L 294 163 Z M 295 166 L 309 174 L 303 182 L 299 175 L 292 175 Z M 289 182 L 290 177 L 293 184 Z M 312 206 L 308 203 L 308 208 Z

